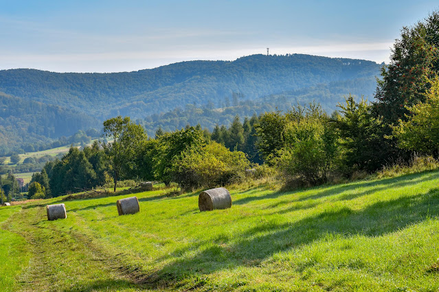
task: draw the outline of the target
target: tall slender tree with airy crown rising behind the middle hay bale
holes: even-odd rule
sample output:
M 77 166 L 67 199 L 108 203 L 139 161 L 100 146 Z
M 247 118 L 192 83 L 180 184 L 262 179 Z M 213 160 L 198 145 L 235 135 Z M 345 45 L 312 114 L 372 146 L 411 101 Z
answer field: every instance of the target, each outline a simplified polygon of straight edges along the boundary
M 109 174 L 113 178 L 115 192 L 117 182 L 130 178 L 135 172 L 135 154 L 147 136 L 141 125 L 121 116 L 104 121 L 104 136 L 113 138 L 113 142 L 104 143 L 102 147 L 109 159 Z

